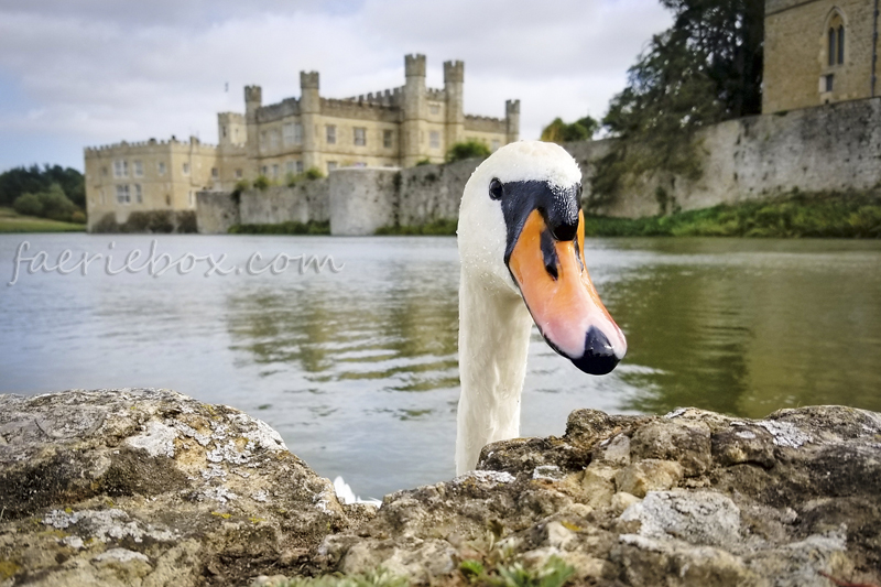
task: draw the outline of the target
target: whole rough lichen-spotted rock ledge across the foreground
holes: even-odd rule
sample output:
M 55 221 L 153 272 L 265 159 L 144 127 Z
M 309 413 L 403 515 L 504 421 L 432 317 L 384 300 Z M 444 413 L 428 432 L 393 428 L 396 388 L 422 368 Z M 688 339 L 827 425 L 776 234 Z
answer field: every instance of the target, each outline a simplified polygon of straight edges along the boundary
M 340 506 L 229 407 L 150 390 L 0 396 L 0 585 L 379 567 L 442 585 L 879 585 L 881 414 L 579 410 L 564 437 L 489 445 L 479 470 L 374 512 Z

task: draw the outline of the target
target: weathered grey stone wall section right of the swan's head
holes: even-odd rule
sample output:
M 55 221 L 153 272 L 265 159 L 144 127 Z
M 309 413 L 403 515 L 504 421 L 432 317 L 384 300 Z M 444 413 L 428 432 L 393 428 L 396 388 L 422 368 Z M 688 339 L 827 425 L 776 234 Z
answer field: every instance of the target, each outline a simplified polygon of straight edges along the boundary
M 762 199 L 798 189 L 845 192 L 881 184 L 881 98 L 730 120 L 698 133 L 703 176 L 696 182 L 668 174 L 631 178 L 622 193 L 591 210 L 638 218 Z M 589 198 L 592 162 L 608 141 L 566 145 L 585 172 Z

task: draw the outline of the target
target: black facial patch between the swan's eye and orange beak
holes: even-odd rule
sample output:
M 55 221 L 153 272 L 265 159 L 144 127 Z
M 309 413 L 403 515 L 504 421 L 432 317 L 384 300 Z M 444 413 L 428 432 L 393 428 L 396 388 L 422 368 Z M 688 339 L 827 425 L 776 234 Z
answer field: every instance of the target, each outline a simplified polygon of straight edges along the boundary
M 507 229 L 504 263 L 508 264 L 532 210 L 539 210 L 542 215 L 551 232 L 548 236 L 554 240 L 575 239 L 578 233 L 578 211 L 581 209 L 581 184 L 557 187 L 535 180 L 503 183 L 501 206 Z M 542 236 L 543 252 L 544 248 Z

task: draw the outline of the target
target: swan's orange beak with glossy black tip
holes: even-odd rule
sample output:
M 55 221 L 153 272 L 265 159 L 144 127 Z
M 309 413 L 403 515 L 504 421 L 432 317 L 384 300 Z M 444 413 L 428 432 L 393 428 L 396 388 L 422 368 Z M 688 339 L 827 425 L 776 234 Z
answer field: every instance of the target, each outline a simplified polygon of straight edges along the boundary
M 561 241 L 532 210 L 508 268 L 547 344 L 581 371 L 606 374 L 624 358 L 627 339 L 590 281 L 584 244 L 583 213 L 576 239 Z

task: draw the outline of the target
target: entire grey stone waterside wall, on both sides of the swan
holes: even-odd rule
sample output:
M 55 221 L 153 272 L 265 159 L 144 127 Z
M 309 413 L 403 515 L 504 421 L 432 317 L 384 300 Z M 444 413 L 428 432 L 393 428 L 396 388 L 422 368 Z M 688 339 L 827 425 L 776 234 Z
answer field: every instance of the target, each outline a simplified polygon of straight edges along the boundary
M 705 129 L 696 140 L 704 170 L 699 180 L 663 173 L 631 177 L 617 198 L 591 211 L 638 218 L 793 189 L 845 192 L 881 184 L 881 98 L 731 120 Z M 611 144 L 606 140 L 566 145 L 584 173 L 585 202 L 596 162 Z M 478 164 L 467 160 L 405 170 L 349 167 L 293 187 L 249 191 L 241 194 L 238 221 L 329 219 L 331 233 L 354 236 L 372 235 L 382 226 L 456 218 L 465 184 Z M 228 195 L 199 194 L 199 231 L 226 232 L 236 224 L 230 202 Z

